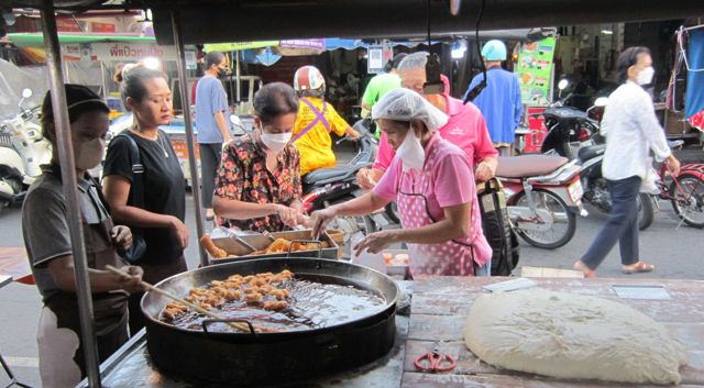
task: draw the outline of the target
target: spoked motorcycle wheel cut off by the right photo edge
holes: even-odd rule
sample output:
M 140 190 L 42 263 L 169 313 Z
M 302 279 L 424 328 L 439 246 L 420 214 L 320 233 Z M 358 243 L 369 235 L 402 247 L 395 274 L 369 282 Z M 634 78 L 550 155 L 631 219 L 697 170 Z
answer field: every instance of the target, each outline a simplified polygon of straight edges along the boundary
M 692 228 L 704 228 L 704 181 L 692 174 L 680 174 L 676 182 L 670 184 L 670 192 L 678 217 Z

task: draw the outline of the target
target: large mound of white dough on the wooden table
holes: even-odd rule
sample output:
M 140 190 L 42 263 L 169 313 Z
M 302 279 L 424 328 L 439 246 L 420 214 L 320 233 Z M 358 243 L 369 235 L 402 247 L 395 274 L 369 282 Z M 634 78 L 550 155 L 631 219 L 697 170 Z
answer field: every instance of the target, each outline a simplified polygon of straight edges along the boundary
M 464 341 L 487 364 L 558 378 L 679 384 L 686 365 L 684 345 L 641 312 L 541 289 L 477 298 Z

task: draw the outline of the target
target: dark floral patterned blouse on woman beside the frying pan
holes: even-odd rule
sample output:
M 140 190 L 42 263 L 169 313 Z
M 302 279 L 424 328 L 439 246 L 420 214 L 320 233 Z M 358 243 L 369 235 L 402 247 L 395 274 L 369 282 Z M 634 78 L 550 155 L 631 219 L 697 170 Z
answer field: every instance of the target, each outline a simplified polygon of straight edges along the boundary
M 264 149 L 250 135 L 232 140 L 222 149 L 220 167 L 216 176 L 215 195 L 250 203 L 280 203 L 289 206 L 300 200 L 301 187 L 298 168 L 298 149 L 287 145 L 278 154 L 278 165 L 274 173 L 266 168 Z M 286 229 L 277 214 L 250 220 L 220 218 L 218 223 L 226 228 L 243 231 L 280 232 Z

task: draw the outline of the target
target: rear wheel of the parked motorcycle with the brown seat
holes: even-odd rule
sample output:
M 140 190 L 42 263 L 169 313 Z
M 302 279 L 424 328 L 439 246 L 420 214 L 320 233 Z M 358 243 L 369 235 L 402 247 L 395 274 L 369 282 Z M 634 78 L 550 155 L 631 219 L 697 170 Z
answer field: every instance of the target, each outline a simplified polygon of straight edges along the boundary
M 568 204 L 564 203 L 562 198 L 548 190 L 534 190 L 532 200 L 537 209 L 546 210 L 552 215 L 552 228 L 544 232 L 525 231 L 516 228 L 518 235 L 528 244 L 544 250 L 559 248 L 569 243 L 574 236 L 574 232 L 576 232 L 576 214 L 568 209 Z M 518 195 L 516 206 L 528 207 L 528 197 L 525 191 Z M 558 219 L 560 222 L 558 222 Z M 562 226 L 562 224 L 566 225 L 557 228 Z

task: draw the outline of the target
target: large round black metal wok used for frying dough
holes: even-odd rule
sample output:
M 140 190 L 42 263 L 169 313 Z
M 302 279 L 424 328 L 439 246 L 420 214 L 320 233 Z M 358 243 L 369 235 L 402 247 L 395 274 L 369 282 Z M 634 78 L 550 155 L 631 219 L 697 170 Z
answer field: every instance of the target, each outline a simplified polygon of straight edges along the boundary
M 354 285 L 385 299 L 377 312 L 341 324 L 278 333 L 202 332 L 158 320 L 170 300 L 147 292 L 142 299 L 150 356 L 164 373 L 186 379 L 256 386 L 305 379 L 371 363 L 394 345 L 398 287 L 385 275 L 346 262 L 270 258 L 209 266 L 176 275 L 158 285 L 186 297 L 194 287 L 234 274 L 278 273 L 320 282 Z

